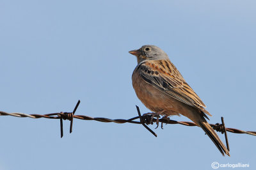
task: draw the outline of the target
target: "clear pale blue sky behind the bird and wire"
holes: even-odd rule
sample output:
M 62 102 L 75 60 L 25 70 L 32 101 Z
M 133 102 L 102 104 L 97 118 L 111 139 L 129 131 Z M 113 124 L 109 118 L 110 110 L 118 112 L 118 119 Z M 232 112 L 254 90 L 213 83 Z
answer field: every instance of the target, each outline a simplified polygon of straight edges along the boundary
M 213 115 L 256 130 L 256 1 L 0 1 L 0 110 L 132 118 L 142 45 L 161 47 Z M 173 116 L 173 120 L 189 121 Z M 222 157 L 198 127 L 0 117 L 0 169 L 256 168 L 256 137 L 228 133 Z M 154 129 L 156 125 L 150 125 Z M 225 143 L 224 135 L 218 133 Z M 237 168 L 239 169 L 239 168 Z

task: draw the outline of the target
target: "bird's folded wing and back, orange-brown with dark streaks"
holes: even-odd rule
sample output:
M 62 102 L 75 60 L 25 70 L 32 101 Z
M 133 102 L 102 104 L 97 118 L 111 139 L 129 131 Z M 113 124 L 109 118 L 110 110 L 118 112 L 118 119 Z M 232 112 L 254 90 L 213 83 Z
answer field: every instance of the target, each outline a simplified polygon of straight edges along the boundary
M 206 114 L 209 114 L 204 109 L 205 104 L 186 83 L 170 60 L 147 61 L 138 66 L 137 69 L 146 82 L 161 89 L 161 91 L 180 102 L 197 107 Z M 209 115 L 211 116 L 211 114 Z

